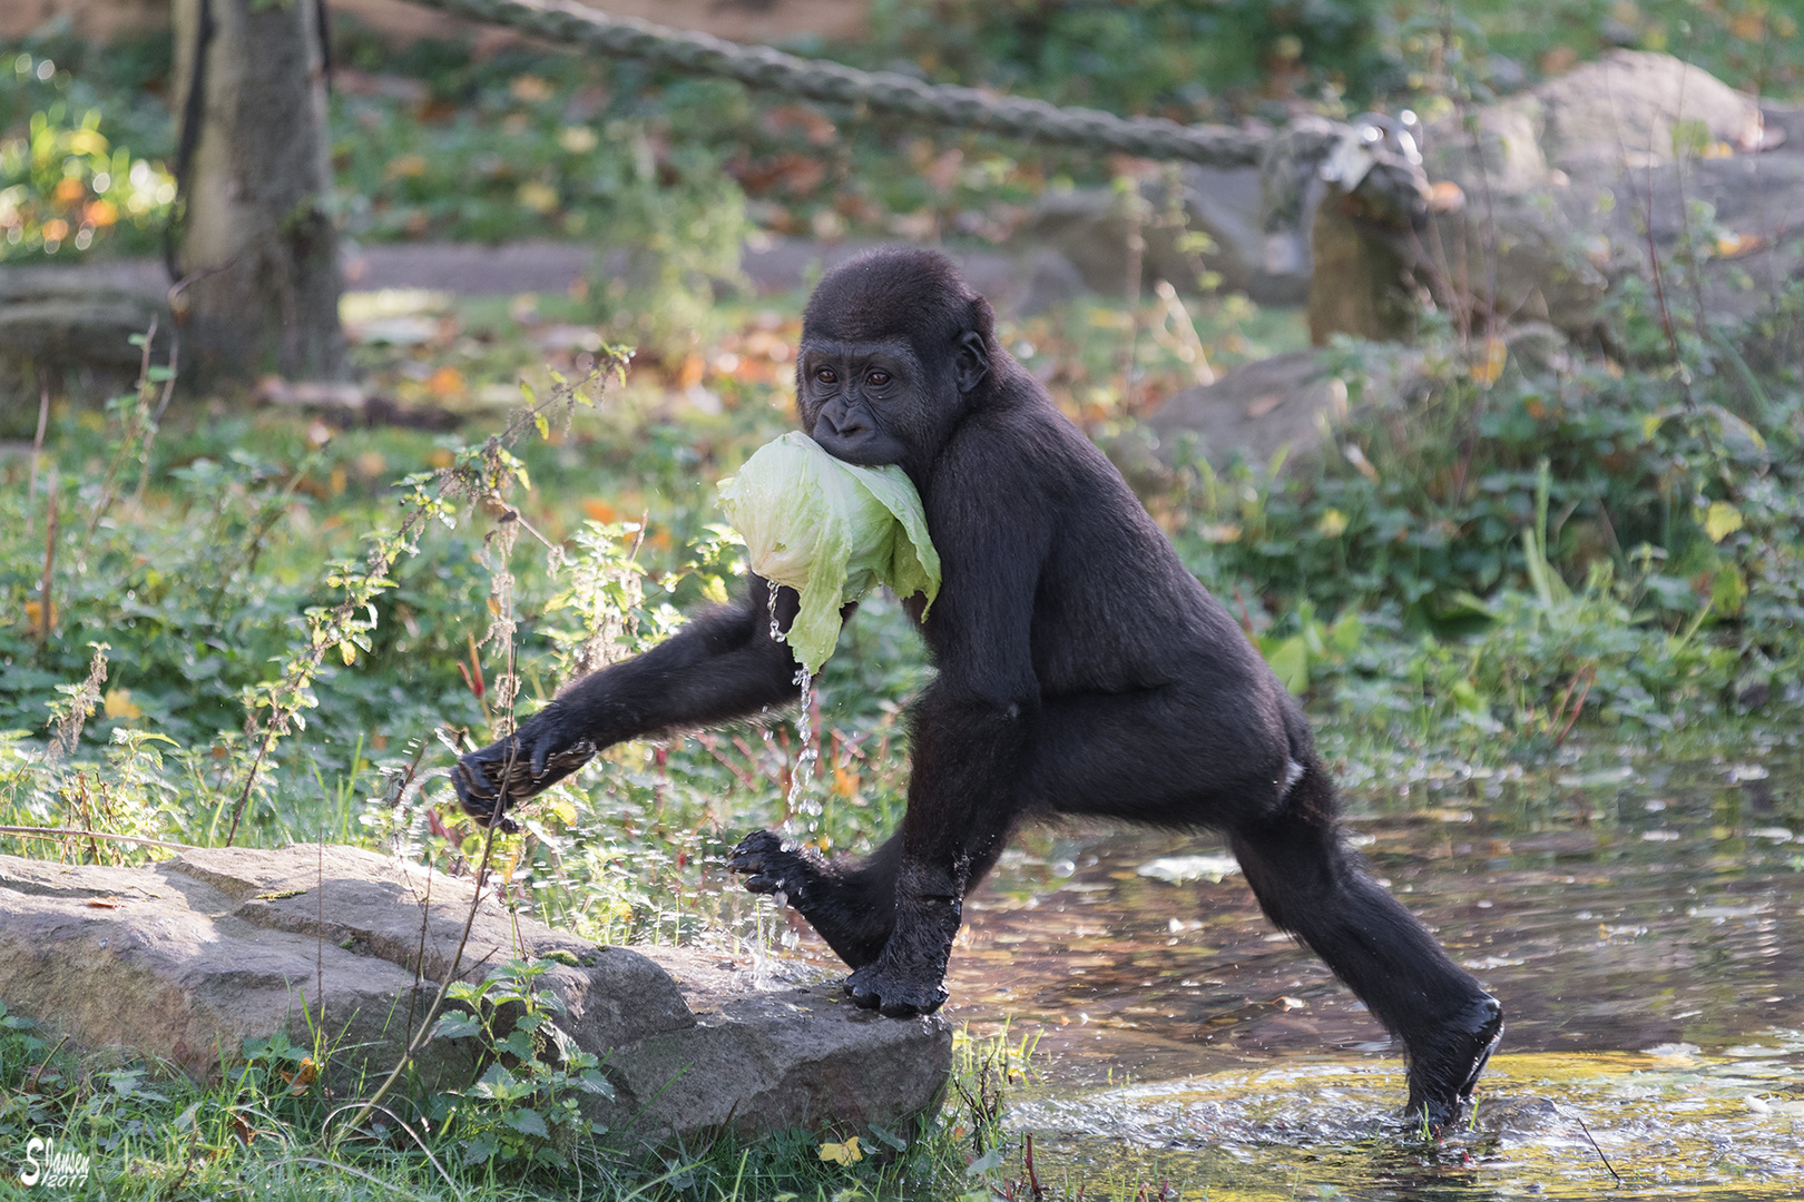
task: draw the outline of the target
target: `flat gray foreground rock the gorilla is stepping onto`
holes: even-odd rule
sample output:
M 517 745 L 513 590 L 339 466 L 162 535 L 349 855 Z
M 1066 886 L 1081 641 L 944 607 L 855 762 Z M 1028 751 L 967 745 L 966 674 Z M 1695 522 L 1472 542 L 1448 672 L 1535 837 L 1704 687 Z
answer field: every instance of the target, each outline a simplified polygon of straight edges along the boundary
M 355 1096 L 431 1006 L 473 899 L 467 879 L 355 847 L 189 851 L 144 869 L 0 856 L 0 1000 L 78 1045 L 166 1058 L 198 1079 L 242 1060 L 245 1040 L 283 1031 L 310 1047 L 310 1027 L 325 1029 L 328 1078 Z M 595 1117 L 635 1137 L 900 1123 L 951 1065 L 940 1018 L 882 1018 L 819 979 L 770 988 L 723 953 L 599 948 L 492 892 L 458 977 L 548 955 L 559 1025 L 615 1088 Z M 419 1079 L 467 1085 L 476 1052 L 433 1040 Z

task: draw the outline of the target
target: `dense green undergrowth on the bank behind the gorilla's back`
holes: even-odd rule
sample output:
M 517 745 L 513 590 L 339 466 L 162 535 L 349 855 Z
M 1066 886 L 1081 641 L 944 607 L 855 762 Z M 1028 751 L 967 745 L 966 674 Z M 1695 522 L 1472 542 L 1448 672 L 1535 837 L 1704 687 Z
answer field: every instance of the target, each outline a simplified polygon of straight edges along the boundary
M 1373 364 L 1346 350 L 1357 387 Z M 1696 386 L 1611 364 L 1485 382 L 1447 342 L 1414 362 L 1414 398 L 1337 449 L 1284 474 L 1198 460 L 1171 503 L 1293 690 L 1418 746 L 1541 755 L 1582 715 L 1663 732 L 1797 679 L 1791 375 L 1717 357 Z

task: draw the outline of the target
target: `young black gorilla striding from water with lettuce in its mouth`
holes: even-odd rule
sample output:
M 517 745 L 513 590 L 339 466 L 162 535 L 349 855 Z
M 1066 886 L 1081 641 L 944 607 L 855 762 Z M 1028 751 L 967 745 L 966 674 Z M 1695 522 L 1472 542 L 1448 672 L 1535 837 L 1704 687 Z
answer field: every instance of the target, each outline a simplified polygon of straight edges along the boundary
M 1120 474 L 996 342 L 989 303 L 936 252 L 830 272 L 803 315 L 803 429 L 920 490 L 943 582 L 920 622 L 938 676 L 913 706 L 902 831 L 826 861 L 770 831 L 734 851 L 855 971 L 848 991 L 924 1015 L 965 894 L 1010 831 L 1097 815 L 1223 831 L 1272 921 L 1301 937 L 1409 1052 L 1409 1108 L 1450 1123 L 1503 1009 L 1342 845 L 1297 703 L 1196 582 Z M 492 820 L 597 748 L 794 699 L 769 589 L 595 672 L 516 735 L 465 755 L 464 807 Z M 797 596 L 778 593 L 779 624 Z M 850 615 L 850 607 L 846 611 Z

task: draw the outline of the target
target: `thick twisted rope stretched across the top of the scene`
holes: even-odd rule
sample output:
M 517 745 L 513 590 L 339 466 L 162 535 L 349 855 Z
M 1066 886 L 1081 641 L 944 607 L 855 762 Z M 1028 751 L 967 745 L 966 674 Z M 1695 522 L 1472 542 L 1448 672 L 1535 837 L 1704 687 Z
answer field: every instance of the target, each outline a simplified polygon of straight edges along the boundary
M 666 29 L 631 16 L 612 16 L 572 0 L 413 2 L 613 58 L 637 58 L 691 74 L 725 76 L 754 88 L 857 105 L 873 114 L 897 114 L 915 121 L 1059 146 L 1238 168 L 1257 164 L 1268 141 L 1225 126 L 1178 124 L 1164 117 L 1117 117 L 1095 108 L 1059 108 L 1046 101 L 922 83 L 889 70 L 857 70 L 823 59 L 796 58 L 770 47 L 738 45 L 709 34 Z

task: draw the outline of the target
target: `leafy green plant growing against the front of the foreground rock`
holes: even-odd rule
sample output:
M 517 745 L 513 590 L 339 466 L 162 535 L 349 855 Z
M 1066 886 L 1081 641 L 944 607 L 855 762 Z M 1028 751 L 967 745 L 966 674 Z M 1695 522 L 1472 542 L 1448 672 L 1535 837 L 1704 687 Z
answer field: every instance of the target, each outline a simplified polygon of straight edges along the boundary
M 476 1083 L 433 1099 L 431 1117 L 451 1132 L 465 1164 L 563 1168 L 583 1135 L 606 1126 L 583 1115 L 583 1096 L 613 1097 L 601 1061 L 556 1022 L 563 1000 L 538 980 L 550 961 L 509 961 L 482 984 L 453 982 L 449 998 L 469 1007 L 438 1020 L 433 1038 L 476 1038 L 487 1067 Z

